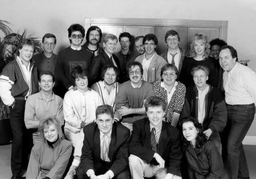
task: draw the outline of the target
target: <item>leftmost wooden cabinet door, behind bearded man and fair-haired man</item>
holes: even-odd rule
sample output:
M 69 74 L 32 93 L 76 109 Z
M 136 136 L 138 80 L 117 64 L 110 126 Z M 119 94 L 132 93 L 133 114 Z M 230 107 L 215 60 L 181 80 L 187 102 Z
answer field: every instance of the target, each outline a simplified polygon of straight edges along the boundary
M 112 34 L 116 35 L 116 37 L 118 39 L 120 33 L 122 33 L 122 31 L 123 31 L 123 26 L 101 25 L 101 24 L 91 24 L 91 26 L 98 26 L 102 31 L 102 39 L 101 39 L 101 42 L 100 42 L 101 47 L 103 47 L 102 43 L 103 43 L 103 39 L 106 36 L 106 34 L 112 33 Z M 116 50 L 114 51 L 114 53 L 116 53 L 120 50 L 121 50 L 121 45 L 117 41 Z

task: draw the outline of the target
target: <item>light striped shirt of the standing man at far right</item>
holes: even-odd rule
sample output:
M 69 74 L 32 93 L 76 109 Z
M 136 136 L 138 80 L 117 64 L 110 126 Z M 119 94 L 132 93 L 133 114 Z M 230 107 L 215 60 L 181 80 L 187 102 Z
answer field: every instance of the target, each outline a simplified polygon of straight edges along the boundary
M 236 63 L 223 74 L 223 87 L 227 104 L 256 103 L 256 73 L 249 67 Z

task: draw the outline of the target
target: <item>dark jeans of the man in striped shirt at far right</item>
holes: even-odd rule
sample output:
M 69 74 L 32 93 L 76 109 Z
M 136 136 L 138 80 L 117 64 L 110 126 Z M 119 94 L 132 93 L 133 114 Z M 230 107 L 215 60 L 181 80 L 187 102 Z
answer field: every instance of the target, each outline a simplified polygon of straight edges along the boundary
M 230 179 L 249 177 L 249 170 L 242 141 L 254 120 L 255 106 L 227 105 L 230 132 L 227 141 L 227 164 Z

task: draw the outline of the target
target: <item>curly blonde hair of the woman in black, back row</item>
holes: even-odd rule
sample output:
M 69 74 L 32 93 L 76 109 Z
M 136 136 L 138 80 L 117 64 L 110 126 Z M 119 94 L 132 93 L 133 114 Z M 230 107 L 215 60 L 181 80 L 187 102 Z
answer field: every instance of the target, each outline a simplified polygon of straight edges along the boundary
M 193 58 L 196 57 L 196 52 L 194 50 L 194 43 L 195 43 L 195 41 L 198 41 L 198 40 L 202 40 L 203 43 L 205 43 L 204 56 L 206 58 L 208 58 L 211 54 L 211 45 L 208 42 L 207 36 L 204 35 L 203 33 L 196 33 L 194 38 L 192 39 L 192 41 L 190 43 L 190 51 L 189 51 L 190 57 L 193 57 Z

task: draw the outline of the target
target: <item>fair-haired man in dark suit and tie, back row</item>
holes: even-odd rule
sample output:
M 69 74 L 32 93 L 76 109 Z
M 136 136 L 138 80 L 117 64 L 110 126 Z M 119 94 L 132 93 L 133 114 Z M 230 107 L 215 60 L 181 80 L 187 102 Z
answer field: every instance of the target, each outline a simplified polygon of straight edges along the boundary
M 122 71 L 120 69 L 119 60 L 116 55 L 114 55 L 114 51 L 116 50 L 116 44 L 118 39 L 114 34 L 107 34 L 103 40 L 104 51 L 97 57 L 92 60 L 92 64 L 89 70 L 89 87 L 94 83 L 100 81 L 102 68 L 106 65 L 113 65 L 119 69 L 120 74 Z M 121 79 L 121 75 L 119 77 Z

